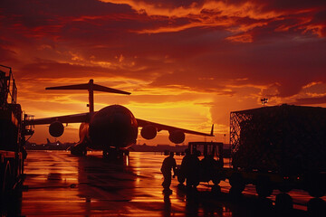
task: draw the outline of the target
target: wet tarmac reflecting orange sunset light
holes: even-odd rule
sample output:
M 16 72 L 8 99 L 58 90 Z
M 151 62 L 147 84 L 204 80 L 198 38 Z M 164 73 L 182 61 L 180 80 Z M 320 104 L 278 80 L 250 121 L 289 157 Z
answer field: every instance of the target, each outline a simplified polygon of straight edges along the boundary
M 231 197 L 229 184 L 212 193 L 212 184 L 186 190 L 173 179 L 173 193 L 162 193 L 159 168 L 166 156 L 130 153 L 119 162 L 103 159 L 101 152 L 71 156 L 64 151 L 31 151 L 25 161 L 22 191 L 2 201 L 1 214 L 9 216 L 324 216 L 325 197 L 312 199 L 292 191 L 292 209 L 274 205 L 278 192 L 267 199 L 248 186 Z M 176 156 L 177 164 L 182 156 Z M 317 206 L 316 209 L 309 209 Z M 316 205 L 317 204 L 317 205 Z M 316 214 L 309 213 L 317 212 Z M 326 216 L 326 215 L 325 215 Z

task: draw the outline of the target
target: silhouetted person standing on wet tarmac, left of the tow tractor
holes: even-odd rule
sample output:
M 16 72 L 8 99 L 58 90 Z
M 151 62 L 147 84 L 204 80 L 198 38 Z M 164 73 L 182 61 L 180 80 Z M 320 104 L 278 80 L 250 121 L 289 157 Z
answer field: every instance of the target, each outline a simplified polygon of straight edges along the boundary
M 162 163 L 161 166 L 161 172 L 163 174 L 164 177 L 164 181 L 162 183 L 162 186 L 164 188 L 164 191 L 169 191 L 171 192 L 171 190 L 169 189 L 169 186 L 171 185 L 171 170 L 173 169 L 173 177 L 176 174 L 176 167 L 177 167 L 177 163 L 176 163 L 176 159 L 173 158 L 174 153 L 170 152 L 169 156 L 166 157 Z

